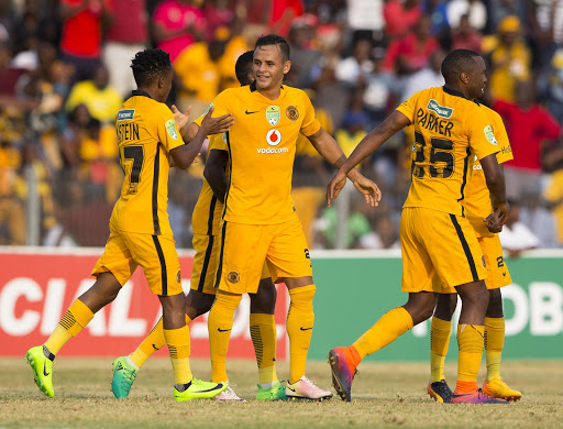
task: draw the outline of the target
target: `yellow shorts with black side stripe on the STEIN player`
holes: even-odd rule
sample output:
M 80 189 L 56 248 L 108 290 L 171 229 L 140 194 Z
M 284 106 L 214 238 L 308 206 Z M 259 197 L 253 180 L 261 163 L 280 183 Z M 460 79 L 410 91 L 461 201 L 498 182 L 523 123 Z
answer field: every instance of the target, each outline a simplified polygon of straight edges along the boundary
M 174 237 L 118 231 L 110 226 L 106 250 L 92 270 L 92 276 L 110 272 L 124 285 L 141 265 L 151 292 L 155 295 L 178 295 L 181 290 L 180 263 Z

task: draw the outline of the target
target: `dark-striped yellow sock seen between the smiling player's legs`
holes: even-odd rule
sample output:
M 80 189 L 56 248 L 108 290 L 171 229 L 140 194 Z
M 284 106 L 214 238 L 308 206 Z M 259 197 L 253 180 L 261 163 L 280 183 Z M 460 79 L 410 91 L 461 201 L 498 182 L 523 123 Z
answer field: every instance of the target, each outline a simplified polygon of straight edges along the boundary
M 276 374 L 276 321 L 274 315 L 251 314 L 251 338 L 258 364 L 260 384 L 274 383 Z

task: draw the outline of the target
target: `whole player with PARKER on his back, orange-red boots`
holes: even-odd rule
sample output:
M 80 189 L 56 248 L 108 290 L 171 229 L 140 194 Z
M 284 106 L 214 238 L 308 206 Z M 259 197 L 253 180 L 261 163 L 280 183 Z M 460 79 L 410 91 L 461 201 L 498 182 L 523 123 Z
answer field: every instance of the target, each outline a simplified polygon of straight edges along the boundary
M 494 199 L 489 228 L 506 222 L 509 207 L 496 158 L 500 147 L 490 118 L 473 101 L 483 95 L 485 72 L 485 62 L 473 51 L 448 54 L 442 62 L 445 85 L 417 92 L 400 105 L 364 138 L 328 186 L 330 205 L 344 186 L 347 172 L 393 134 L 415 125 L 412 183 L 400 226 L 401 288 L 409 294 L 408 301 L 384 315 L 353 345 L 329 352 L 334 387 L 344 400 L 351 400 L 355 369 L 363 358 L 430 318 L 435 305 L 433 292 L 442 292 L 432 283 L 435 274 L 444 288 L 455 288 L 462 298 L 457 386 L 452 403 L 504 403 L 477 388 L 489 296 L 483 282 L 483 253 L 461 204 L 476 156 Z

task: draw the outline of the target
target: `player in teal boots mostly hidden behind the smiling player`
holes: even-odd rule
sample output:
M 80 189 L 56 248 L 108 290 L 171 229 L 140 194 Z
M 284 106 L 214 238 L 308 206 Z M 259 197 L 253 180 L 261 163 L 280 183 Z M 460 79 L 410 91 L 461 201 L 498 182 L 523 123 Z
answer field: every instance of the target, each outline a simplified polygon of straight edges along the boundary
M 252 74 L 253 52 L 241 55 L 235 65 L 235 73 L 241 85 L 250 85 Z M 173 107 L 175 116 L 177 110 Z M 185 120 L 178 116 L 178 123 Z M 196 130 L 201 123 L 196 121 Z M 194 125 L 188 125 L 194 127 Z M 181 131 L 187 131 L 181 129 Z M 189 139 L 189 135 L 187 136 Z M 227 194 L 227 176 L 229 153 L 222 135 L 211 138 L 208 148 L 208 160 L 203 170 L 203 186 L 199 195 L 196 208 L 191 217 L 194 229 L 194 270 L 191 273 L 191 289 L 186 299 L 186 324 L 197 317 L 208 312 L 216 298 L 214 278 L 218 264 L 218 253 L 221 240 L 219 238 L 219 221 L 223 211 L 223 201 Z M 209 180 L 209 183 L 208 183 Z M 211 186 L 210 186 L 211 184 Z M 276 322 L 274 310 L 276 304 L 276 288 L 269 277 L 267 267 L 261 276 L 257 293 L 251 294 L 250 329 L 251 338 L 256 352 L 258 364 L 260 384 L 257 399 L 275 400 L 285 399 L 285 387 L 276 375 Z M 113 362 L 113 378 L 111 391 L 117 398 L 129 396 L 139 370 L 146 360 L 158 349 L 166 344 L 163 333 L 162 319 L 158 324 L 141 342 L 139 348 L 129 356 L 118 358 Z M 223 381 L 228 383 L 227 381 Z M 232 389 L 221 392 L 213 397 L 219 400 L 242 400 Z

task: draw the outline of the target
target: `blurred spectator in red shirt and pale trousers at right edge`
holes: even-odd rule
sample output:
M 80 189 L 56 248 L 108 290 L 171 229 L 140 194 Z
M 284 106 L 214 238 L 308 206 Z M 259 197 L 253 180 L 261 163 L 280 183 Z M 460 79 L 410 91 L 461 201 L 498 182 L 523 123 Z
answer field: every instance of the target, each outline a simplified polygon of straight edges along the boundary
M 541 191 L 541 152 L 559 138 L 561 125 L 536 101 L 533 82 L 517 84 L 516 103 L 498 100 L 493 105 L 506 125 L 514 160 L 505 163 L 507 196 L 517 198 L 523 189 Z

